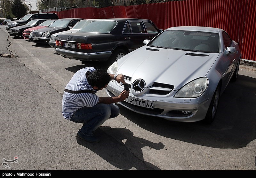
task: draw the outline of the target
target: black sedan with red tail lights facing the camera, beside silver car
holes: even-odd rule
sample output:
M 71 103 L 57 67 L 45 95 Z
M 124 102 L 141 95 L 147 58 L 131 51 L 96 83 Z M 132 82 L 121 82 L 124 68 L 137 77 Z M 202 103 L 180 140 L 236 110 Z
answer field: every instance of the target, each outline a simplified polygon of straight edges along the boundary
M 55 50 L 64 58 L 111 63 L 161 31 L 148 19 L 95 20 L 76 33 L 57 35 Z

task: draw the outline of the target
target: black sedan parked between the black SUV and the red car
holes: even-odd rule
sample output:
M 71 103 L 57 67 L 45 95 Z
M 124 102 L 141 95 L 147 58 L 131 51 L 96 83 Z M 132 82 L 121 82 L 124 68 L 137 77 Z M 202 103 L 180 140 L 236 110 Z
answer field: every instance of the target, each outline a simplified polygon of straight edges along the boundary
M 35 19 L 35 20 L 31 20 L 28 23 L 26 23 L 26 25 L 12 27 L 9 30 L 9 35 L 14 36 L 14 37 L 20 37 L 20 36 L 22 36 L 22 32 L 24 30 L 31 28 L 31 27 L 36 27 L 36 26 L 40 25 L 42 22 L 44 22 L 45 20 L 50 20 L 50 19 Z

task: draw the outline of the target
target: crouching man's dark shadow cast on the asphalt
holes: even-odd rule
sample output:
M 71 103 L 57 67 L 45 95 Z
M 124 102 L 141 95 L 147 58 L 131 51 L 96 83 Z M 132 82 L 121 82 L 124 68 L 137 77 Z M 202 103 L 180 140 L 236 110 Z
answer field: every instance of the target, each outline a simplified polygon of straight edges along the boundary
M 130 170 L 133 167 L 137 170 L 160 170 L 157 166 L 143 159 L 141 148 L 149 146 L 153 149 L 160 150 L 164 148 L 163 143 L 152 143 L 148 140 L 135 137 L 126 128 L 110 128 L 104 126 L 97 129 L 94 134 L 100 135 L 100 143 L 88 143 L 76 137 L 77 143 L 90 149 L 111 165 L 122 170 Z M 109 135 L 116 135 L 116 137 L 112 138 Z M 130 149 L 133 150 L 133 153 Z M 135 153 L 134 150 L 136 150 Z

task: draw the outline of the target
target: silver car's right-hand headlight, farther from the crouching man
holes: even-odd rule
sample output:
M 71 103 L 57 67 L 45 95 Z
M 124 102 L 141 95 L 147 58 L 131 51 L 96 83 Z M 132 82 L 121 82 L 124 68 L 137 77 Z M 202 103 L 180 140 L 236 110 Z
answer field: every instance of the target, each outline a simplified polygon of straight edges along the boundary
M 183 86 L 174 97 L 178 98 L 194 98 L 203 95 L 207 89 L 208 79 L 206 77 L 196 79 Z

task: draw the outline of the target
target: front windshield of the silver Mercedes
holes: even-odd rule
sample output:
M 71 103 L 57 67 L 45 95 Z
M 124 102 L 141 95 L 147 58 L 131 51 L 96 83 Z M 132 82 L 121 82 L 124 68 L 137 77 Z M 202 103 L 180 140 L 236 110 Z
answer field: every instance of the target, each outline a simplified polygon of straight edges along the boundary
M 151 41 L 148 46 L 218 53 L 220 49 L 220 38 L 217 33 L 166 30 Z

